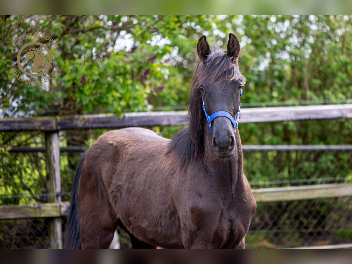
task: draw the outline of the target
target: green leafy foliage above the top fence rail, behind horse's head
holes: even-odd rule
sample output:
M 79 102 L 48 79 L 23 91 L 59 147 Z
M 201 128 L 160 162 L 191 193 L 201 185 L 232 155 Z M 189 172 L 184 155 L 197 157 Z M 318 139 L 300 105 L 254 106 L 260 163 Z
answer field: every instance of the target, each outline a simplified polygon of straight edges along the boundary
M 240 67 L 248 79 L 244 102 L 351 98 L 351 20 L 324 15 L 11 16 L 0 21 L 0 109 L 4 116 L 52 108 L 62 114 L 121 114 L 186 105 L 198 38 L 206 34 L 226 48 L 230 32 L 241 41 Z M 9 68 L 16 66 L 11 42 L 32 31 L 46 32 L 59 45 L 51 51 L 52 67 L 60 75 L 49 88 L 11 83 Z

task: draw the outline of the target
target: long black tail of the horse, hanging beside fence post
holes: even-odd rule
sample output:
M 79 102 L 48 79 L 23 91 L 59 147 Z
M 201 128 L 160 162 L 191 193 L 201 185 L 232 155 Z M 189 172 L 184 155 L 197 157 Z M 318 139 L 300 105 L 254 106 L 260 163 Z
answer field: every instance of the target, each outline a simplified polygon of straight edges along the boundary
M 80 212 L 78 210 L 78 184 L 80 182 L 81 169 L 86 155 L 87 151 L 84 152 L 80 158 L 80 163 L 78 164 L 75 178 L 73 180 L 70 208 L 64 234 L 65 249 L 81 249 Z

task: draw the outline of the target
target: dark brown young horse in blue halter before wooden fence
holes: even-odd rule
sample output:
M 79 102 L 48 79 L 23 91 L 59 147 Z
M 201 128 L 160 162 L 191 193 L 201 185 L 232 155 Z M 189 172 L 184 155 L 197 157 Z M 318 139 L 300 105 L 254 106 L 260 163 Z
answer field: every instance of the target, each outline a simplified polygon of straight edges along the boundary
M 245 249 L 256 201 L 237 127 L 240 44 L 197 43 L 189 125 L 166 139 L 144 128 L 102 134 L 78 165 L 66 249 L 107 249 L 119 225 L 133 249 Z M 207 113 L 213 113 L 208 115 Z

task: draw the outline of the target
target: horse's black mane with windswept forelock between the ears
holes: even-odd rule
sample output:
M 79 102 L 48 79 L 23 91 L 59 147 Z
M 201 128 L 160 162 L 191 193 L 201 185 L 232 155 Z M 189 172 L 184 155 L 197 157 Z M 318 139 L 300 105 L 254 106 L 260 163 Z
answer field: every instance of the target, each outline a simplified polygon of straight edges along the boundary
M 202 95 L 199 90 L 200 84 L 216 84 L 246 79 L 238 68 L 238 62 L 233 61 L 223 49 L 215 47 L 205 61 L 200 61 L 194 71 L 191 81 L 191 94 L 188 100 L 187 128 L 177 132 L 169 145 L 169 152 L 175 151 L 180 158 L 181 165 L 187 165 L 191 161 L 201 158 L 204 151 L 205 117 L 202 109 Z M 206 82 L 206 83 L 205 83 Z

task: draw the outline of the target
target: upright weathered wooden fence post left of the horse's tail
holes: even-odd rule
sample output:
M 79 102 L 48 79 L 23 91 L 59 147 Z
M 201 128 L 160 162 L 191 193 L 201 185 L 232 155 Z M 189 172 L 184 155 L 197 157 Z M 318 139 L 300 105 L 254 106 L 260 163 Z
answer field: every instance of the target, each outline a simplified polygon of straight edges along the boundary
M 45 159 L 46 159 L 46 188 L 48 202 L 61 202 L 57 193 L 61 192 L 60 178 L 60 149 L 58 131 L 45 132 Z M 55 195 L 52 195 L 55 194 Z M 48 224 L 51 249 L 62 249 L 62 221 L 61 218 L 52 218 Z

